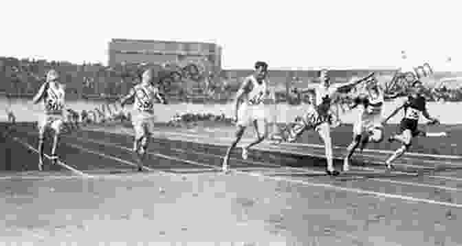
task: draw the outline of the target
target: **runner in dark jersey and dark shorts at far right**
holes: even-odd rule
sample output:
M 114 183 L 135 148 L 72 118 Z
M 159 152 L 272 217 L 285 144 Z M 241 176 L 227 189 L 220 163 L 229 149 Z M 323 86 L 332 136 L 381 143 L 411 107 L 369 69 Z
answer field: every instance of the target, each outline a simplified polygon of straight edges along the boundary
M 423 85 L 420 80 L 416 80 L 412 84 L 412 87 L 413 92 L 410 96 L 408 96 L 404 104 L 395 109 L 395 111 L 393 111 L 393 113 L 391 113 L 391 115 L 384 120 L 384 123 L 386 123 L 401 109 L 404 109 L 404 118 L 402 118 L 399 124 L 399 133 L 396 135 L 391 135 L 391 137 L 388 139 L 389 142 L 397 141 L 403 145 L 401 148 L 398 148 L 395 153 L 391 155 L 391 157 L 386 159 L 385 164 L 388 169 L 393 168 L 391 164 L 392 161 L 395 161 L 395 159 L 398 159 L 404 155 L 407 150 L 409 150 L 413 137 L 417 137 L 418 135 L 426 135 L 423 131 L 419 131 L 417 128 L 420 115 L 423 115 L 425 118 L 430 120 L 430 124 L 439 123 L 439 120 L 437 120 L 437 118 L 432 118 L 427 111 L 426 98 L 424 98 L 422 95 Z

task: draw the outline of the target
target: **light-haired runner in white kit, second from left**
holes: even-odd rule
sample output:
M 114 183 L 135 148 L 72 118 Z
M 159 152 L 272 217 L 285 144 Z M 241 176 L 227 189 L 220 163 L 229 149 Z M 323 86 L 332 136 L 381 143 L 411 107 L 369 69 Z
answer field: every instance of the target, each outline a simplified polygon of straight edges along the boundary
M 127 96 L 120 100 L 122 108 L 128 100 L 135 98 L 133 103 L 132 124 L 135 130 L 135 141 L 133 143 L 133 155 L 137 160 L 138 171 L 143 170 L 143 162 L 146 157 L 148 140 L 153 133 L 155 122 L 154 103 L 156 100 L 165 103 L 164 98 L 159 95 L 159 90 L 153 85 L 159 82 L 158 69 L 147 69 L 142 74 L 142 82 L 133 87 Z

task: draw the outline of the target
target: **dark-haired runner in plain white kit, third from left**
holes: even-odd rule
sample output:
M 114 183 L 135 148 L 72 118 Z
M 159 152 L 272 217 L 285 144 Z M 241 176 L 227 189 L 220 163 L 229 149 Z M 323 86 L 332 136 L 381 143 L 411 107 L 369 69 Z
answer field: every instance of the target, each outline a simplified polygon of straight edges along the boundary
M 256 138 L 247 146 L 242 146 L 242 158 L 248 158 L 248 149 L 259 144 L 267 137 L 267 117 L 265 113 L 265 100 L 269 98 L 270 91 L 267 87 L 267 63 L 258 61 L 255 63 L 255 72 L 244 79 L 241 88 L 237 91 L 235 101 L 236 117 L 236 139 L 232 142 L 230 148 L 223 158 L 223 171 L 228 170 L 228 161 L 231 150 L 241 140 L 245 128 L 254 126 Z

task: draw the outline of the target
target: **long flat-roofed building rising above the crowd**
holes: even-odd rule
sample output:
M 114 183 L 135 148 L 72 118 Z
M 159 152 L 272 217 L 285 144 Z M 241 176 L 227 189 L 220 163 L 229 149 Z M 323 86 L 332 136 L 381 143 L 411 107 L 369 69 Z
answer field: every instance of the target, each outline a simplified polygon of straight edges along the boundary
M 112 39 L 109 66 L 120 63 L 171 63 L 206 60 L 214 71 L 221 69 L 221 47 L 214 43 Z

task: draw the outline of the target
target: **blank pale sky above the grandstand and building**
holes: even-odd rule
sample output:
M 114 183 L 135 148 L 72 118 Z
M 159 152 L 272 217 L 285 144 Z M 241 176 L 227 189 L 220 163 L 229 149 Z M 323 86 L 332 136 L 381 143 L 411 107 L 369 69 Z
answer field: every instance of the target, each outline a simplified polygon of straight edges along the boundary
M 111 38 L 133 38 L 218 43 L 225 69 L 462 71 L 457 2 L 4 1 L 0 56 L 107 65 Z

